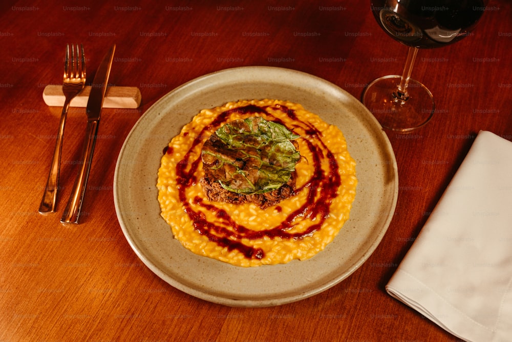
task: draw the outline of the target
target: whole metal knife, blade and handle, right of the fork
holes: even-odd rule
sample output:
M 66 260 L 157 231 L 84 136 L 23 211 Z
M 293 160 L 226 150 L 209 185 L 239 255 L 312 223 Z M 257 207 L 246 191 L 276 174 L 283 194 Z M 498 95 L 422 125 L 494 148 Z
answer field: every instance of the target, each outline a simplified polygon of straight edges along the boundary
M 107 82 L 109 81 L 110 69 L 114 59 L 114 51 L 116 45 L 110 48 L 109 52 L 103 57 L 103 61 L 99 65 L 94 81 L 91 87 L 91 93 L 87 102 L 87 127 L 86 136 L 83 141 L 82 159 L 83 163 L 80 165 L 78 174 L 76 175 L 75 184 L 71 196 L 68 200 L 68 205 L 64 210 L 61 223 L 78 223 L 80 217 L 80 209 L 83 203 L 83 195 L 86 193 L 87 179 L 89 178 L 89 171 L 91 170 L 91 162 L 93 159 L 94 145 L 96 143 L 96 136 L 98 134 L 99 118 L 101 114 L 101 107 L 103 106 L 103 99 L 105 97 Z

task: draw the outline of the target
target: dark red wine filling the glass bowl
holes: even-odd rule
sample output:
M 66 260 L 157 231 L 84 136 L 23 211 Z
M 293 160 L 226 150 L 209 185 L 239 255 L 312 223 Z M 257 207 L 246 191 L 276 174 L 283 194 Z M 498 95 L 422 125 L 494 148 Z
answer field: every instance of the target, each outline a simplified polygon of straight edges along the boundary
M 371 0 L 377 23 L 408 46 L 437 48 L 469 35 L 483 12 L 483 0 Z

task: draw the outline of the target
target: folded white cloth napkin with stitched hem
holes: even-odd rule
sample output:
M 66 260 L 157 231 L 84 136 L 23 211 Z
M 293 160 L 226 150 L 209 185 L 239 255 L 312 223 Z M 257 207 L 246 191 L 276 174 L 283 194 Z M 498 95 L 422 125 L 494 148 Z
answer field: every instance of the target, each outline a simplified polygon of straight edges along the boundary
M 467 341 L 512 341 L 512 142 L 480 131 L 386 286 Z

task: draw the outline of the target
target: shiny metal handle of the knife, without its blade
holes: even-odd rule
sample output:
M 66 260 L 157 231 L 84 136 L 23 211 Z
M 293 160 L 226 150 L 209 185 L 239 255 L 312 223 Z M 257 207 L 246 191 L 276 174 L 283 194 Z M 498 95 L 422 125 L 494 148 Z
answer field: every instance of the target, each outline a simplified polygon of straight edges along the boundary
M 98 120 L 88 120 L 86 127 L 86 136 L 83 141 L 82 160 L 78 174 L 76 175 L 75 184 L 71 196 L 69 197 L 68 204 L 62 218 L 61 223 L 78 223 L 80 216 L 80 209 L 83 203 L 83 195 L 86 193 L 87 180 L 89 178 L 89 171 L 91 170 L 91 163 L 93 160 L 94 145 L 96 144 L 96 136 L 98 132 Z

